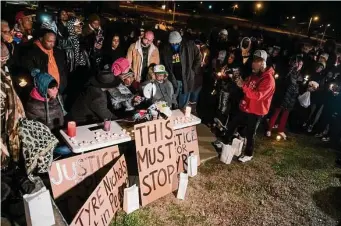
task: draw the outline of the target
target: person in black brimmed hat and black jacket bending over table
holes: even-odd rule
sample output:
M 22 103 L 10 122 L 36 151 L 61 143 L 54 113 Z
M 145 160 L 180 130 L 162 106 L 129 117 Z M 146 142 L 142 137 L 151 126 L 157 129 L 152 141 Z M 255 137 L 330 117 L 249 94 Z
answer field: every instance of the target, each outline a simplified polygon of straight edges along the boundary
M 88 86 L 78 96 L 71 108 L 71 118 L 78 125 L 116 119 L 108 107 L 108 90 L 116 86 L 115 78 L 109 70 L 101 71 L 90 79 Z

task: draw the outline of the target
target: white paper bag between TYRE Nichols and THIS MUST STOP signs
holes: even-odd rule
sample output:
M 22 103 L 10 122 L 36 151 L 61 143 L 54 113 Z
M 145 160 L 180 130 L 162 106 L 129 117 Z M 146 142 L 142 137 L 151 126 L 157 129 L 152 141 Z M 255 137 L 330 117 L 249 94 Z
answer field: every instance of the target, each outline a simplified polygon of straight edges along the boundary
M 139 189 L 136 184 L 134 184 L 130 188 L 124 189 L 123 210 L 129 214 L 139 208 Z

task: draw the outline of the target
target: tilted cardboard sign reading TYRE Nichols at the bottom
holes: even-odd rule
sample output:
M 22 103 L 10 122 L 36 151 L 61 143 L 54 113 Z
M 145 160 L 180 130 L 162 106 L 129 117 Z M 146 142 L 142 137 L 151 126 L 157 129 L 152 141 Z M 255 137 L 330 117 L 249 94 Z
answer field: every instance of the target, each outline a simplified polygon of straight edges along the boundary
M 78 211 L 71 226 L 107 226 L 121 207 L 123 184 L 128 180 L 127 164 L 122 155 L 105 175 Z

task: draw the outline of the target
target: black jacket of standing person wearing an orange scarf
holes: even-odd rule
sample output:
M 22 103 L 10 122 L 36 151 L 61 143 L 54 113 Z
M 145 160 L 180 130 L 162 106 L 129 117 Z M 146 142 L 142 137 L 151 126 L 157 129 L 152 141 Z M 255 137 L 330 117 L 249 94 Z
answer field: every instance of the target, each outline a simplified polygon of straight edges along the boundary
M 60 77 L 59 90 L 60 93 L 63 93 L 67 86 L 65 55 L 62 50 L 55 48 L 53 49 L 53 56 L 56 60 Z M 35 44 L 29 48 L 28 52 L 23 57 L 23 66 L 28 70 L 29 73 L 34 68 L 38 68 L 40 71 L 48 73 L 48 62 L 48 55 L 41 51 L 40 48 Z

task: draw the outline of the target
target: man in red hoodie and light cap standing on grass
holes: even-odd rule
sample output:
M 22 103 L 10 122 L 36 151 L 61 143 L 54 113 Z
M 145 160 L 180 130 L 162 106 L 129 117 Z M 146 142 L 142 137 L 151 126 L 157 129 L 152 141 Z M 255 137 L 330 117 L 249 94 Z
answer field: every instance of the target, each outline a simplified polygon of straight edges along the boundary
M 246 148 L 241 162 L 250 161 L 253 157 L 255 135 L 264 115 L 269 112 L 272 96 L 275 92 L 274 70 L 266 66 L 267 53 L 257 50 L 252 62 L 252 75 L 245 81 L 241 77 L 236 79 L 236 84 L 242 88 L 244 98 L 239 104 L 240 112 L 228 124 L 225 141 L 230 142 L 238 126 L 246 123 Z

